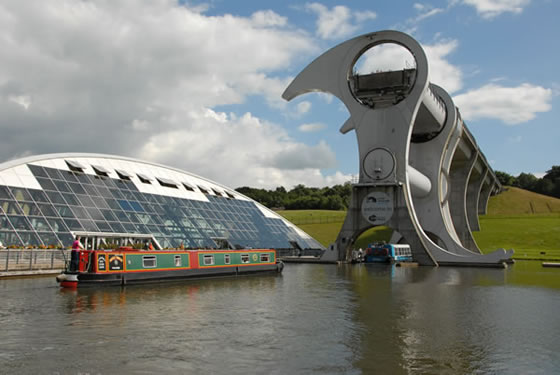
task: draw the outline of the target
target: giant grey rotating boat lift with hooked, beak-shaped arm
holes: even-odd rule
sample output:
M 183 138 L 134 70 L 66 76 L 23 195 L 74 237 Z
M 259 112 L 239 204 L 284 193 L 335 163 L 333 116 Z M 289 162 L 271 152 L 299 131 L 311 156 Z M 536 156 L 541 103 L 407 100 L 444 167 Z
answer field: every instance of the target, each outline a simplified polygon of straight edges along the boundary
M 370 48 L 404 47 L 415 68 L 357 74 Z M 330 93 L 350 117 L 360 157 L 346 219 L 323 260 L 349 260 L 356 239 L 375 226 L 393 229 L 391 242 L 408 243 L 421 265 L 504 266 L 513 250 L 482 254 L 472 236 L 478 214 L 501 188 L 449 94 L 430 83 L 420 44 L 398 31 L 350 39 L 328 50 L 292 81 L 282 97 Z

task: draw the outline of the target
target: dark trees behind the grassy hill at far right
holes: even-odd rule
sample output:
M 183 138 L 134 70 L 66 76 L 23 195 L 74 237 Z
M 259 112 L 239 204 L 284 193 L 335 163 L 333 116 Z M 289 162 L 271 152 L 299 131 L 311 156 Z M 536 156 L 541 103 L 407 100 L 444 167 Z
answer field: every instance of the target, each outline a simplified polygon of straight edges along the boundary
M 515 186 L 535 193 L 560 198 L 560 166 L 555 165 L 542 178 L 531 173 L 521 173 L 514 177 L 505 172 L 496 171 L 496 177 L 504 186 Z

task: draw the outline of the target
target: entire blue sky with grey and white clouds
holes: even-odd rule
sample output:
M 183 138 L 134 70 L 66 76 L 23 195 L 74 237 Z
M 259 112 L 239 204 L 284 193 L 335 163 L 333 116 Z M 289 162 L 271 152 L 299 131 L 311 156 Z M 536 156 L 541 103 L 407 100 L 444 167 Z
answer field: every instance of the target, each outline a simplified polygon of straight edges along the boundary
M 0 162 L 91 152 L 232 188 L 343 184 L 359 172 L 344 105 L 281 95 L 328 49 L 391 29 L 423 46 L 494 170 L 542 177 L 560 165 L 559 14 L 557 0 L 3 0 Z

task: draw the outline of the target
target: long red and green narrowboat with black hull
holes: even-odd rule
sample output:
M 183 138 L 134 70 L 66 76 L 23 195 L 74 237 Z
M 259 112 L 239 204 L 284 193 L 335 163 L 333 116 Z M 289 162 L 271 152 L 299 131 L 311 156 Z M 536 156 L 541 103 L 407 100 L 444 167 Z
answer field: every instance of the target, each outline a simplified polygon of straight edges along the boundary
M 284 265 L 274 249 L 242 250 L 79 250 L 57 276 L 61 287 L 135 283 L 280 273 Z M 73 269 L 75 268 L 75 269 Z

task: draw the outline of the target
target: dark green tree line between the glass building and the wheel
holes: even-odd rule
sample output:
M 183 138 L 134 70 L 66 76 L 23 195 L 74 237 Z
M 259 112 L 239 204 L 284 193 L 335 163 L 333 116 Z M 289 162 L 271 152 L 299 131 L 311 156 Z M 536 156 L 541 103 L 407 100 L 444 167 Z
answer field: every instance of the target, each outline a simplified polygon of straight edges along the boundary
M 237 192 L 271 209 L 285 210 L 345 210 L 350 204 L 352 184 L 313 188 L 296 185 L 291 190 L 280 186 L 274 190 L 240 187 Z

